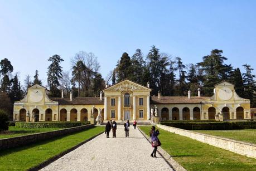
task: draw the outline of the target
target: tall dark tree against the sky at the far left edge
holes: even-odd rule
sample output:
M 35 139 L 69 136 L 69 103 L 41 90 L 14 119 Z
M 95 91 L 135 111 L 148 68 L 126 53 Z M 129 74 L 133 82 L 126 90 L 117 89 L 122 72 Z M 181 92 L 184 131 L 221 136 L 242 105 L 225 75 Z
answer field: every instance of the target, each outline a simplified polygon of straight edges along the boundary
M 1 81 L 1 90 L 3 92 L 9 93 L 11 88 L 11 83 L 12 83 L 9 77 L 11 76 L 11 73 L 13 71 L 13 66 L 7 58 L 4 58 L 3 60 L 0 61 L 0 66 L 1 66 L 0 73 L 3 76 Z

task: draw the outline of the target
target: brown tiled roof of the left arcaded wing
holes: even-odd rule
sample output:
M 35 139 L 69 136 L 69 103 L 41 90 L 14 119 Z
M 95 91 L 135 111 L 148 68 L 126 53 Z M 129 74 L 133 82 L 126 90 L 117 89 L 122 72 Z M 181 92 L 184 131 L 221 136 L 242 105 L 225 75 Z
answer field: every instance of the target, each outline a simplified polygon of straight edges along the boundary
M 59 105 L 104 105 L 104 99 L 99 97 L 75 97 L 72 101 L 69 98 L 50 97 L 51 100 L 59 102 Z

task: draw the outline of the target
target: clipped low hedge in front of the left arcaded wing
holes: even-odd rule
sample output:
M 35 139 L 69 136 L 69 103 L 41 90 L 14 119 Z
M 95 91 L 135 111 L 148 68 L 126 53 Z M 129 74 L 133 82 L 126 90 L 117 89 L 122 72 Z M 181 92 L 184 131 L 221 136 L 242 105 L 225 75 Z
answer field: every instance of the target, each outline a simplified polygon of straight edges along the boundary
M 88 121 L 37 122 L 37 123 L 16 122 L 15 126 L 18 128 L 71 128 L 71 127 L 87 125 L 87 124 L 89 124 Z

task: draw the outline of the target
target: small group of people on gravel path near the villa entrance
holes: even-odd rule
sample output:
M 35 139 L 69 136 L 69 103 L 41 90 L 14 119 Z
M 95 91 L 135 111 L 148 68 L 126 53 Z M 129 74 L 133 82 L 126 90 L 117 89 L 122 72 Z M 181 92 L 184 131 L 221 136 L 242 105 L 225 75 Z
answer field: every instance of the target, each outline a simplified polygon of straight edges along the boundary
M 133 126 L 134 126 L 134 129 L 136 129 L 136 126 L 137 126 L 136 120 L 134 120 Z M 113 138 L 116 138 L 117 137 L 117 134 L 116 134 L 117 133 L 117 123 L 115 122 L 115 120 L 108 121 L 108 123 L 106 124 L 105 134 L 107 134 L 107 138 L 109 138 L 109 132 L 111 129 L 112 129 L 112 133 L 113 133 Z M 124 122 L 125 137 L 129 137 L 129 130 L 130 130 L 130 122 L 129 122 L 129 120 L 126 120 Z

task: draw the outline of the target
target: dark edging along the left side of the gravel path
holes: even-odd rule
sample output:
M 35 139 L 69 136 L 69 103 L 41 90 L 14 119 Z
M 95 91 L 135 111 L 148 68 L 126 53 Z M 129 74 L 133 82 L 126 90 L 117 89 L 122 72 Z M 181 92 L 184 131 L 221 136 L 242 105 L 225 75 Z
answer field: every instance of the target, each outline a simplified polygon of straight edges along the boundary
M 96 135 L 92 136 L 92 137 L 89 138 L 89 139 L 86 139 L 85 141 L 79 143 L 78 145 L 75 145 L 75 146 L 71 147 L 70 149 L 65 150 L 64 152 L 61 152 L 60 154 L 57 154 L 57 155 L 55 155 L 54 157 L 51 157 L 51 158 L 45 160 L 44 162 L 35 165 L 34 167 L 28 169 L 28 171 L 36 171 L 36 170 L 40 170 L 40 169 L 46 167 L 47 165 L 49 165 L 49 164 L 51 164 L 52 162 L 56 161 L 57 159 L 61 158 L 61 157 L 64 156 L 65 154 L 72 152 L 73 150 L 79 148 L 79 146 L 81 146 L 81 145 L 87 143 L 88 141 L 90 141 L 90 140 L 96 138 L 96 136 L 99 136 L 100 134 L 103 134 L 103 133 L 104 133 L 104 131 L 101 132 L 101 133 L 99 133 L 99 134 L 96 134 Z

